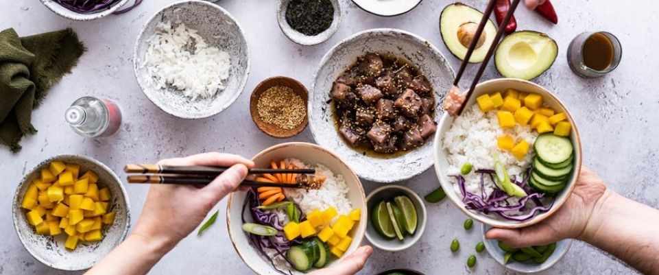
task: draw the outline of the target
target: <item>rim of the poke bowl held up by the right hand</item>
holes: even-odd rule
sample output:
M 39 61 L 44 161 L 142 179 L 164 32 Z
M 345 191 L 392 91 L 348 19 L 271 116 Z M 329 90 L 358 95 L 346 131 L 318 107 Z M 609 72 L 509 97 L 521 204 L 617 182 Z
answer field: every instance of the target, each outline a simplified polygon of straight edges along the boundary
M 462 202 L 462 200 L 459 200 L 459 198 L 457 198 L 457 195 L 455 195 L 455 196 L 454 195 L 448 195 L 448 192 L 453 192 L 453 183 L 446 182 L 444 180 L 444 178 L 442 178 L 441 175 L 446 174 L 446 173 L 445 173 L 445 171 L 440 170 L 440 165 L 438 165 L 440 152 L 442 154 L 444 154 L 444 150 L 442 149 L 442 141 L 441 141 L 441 138 L 442 138 L 443 134 L 440 135 L 440 130 L 442 129 L 442 125 L 444 125 L 444 123 L 447 123 L 446 121 L 449 119 L 448 112 L 444 112 L 444 115 L 442 116 L 442 119 L 440 120 L 440 124 L 438 124 L 438 132 L 435 133 L 435 137 L 434 137 L 435 144 L 434 144 L 434 148 L 433 148 L 433 150 L 434 150 L 433 158 L 434 158 L 434 163 L 435 163 L 435 165 L 434 165 L 435 166 L 435 176 L 437 176 L 437 178 L 440 182 L 440 185 L 446 191 L 446 194 L 447 194 L 446 197 L 448 197 L 448 200 L 450 200 L 453 203 L 453 205 L 455 205 L 460 211 L 462 211 L 462 213 L 465 213 L 465 215 L 468 215 L 472 219 L 476 219 L 477 221 L 479 221 L 483 224 L 488 224 L 488 225 L 493 226 L 493 227 L 498 227 L 498 228 L 523 228 L 523 227 L 527 227 L 527 226 L 532 226 L 534 224 L 538 224 L 539 222 L 542 222 L 544 219 L 547 219 L 547 217 L 551 217 L 551 215 L 556 213 L 556 211 L 558 211 L 558 209 L 561 208 L 561 206 L 563 206 L 563 204 L 568 200 L 569 196 L 572 194 L 572 191 L 575 188 L 575 185 L 577 184 L 577 179 L 579 178 L 579 173 L 581 172 L 581 169 L 582 169 L 582 159 L 583 159 L 582 141 L 581 141 L 581 136 L 579 135 L 579 129 L 577 128 L 577 123 L 575 123 L 575 120 L 573 119 L 572 115 L 570 114 L 570 111 L 568 110 L 568 108 L 566 108 L 565 104 L 563 104 L 563 102 L 560 101 L 560 99 L 558 99 L 558 97 L 556 97 L 553 93 L 551 93 L 551 91 L 547 90 L 547 88 L 544 88 L 544 87 L 542 87 L 538 84 L 535 84 L 534 82 L 530 82 L 530 81 L 527 81 L 527 80 L 519 80 L 519 79 L 515 79 L 515 78 L 496 78 L 494 80 L 488 80 L 486 82 L 479 83 L 476 86 L 476 89 L 478 89 L 480 86 L 487 86 L 487 85 L 493 84 L 493 83 L 496 84 L 496 82 L 509 82 L 509 83 L 517 82 L 517 85 L 515 85 L 515 84 L 508 85 L 512 88 L 515 87 L 515 86 L 518 86 L 518 84 L 535 86 L 539 90 L 544 91 L 545 95 L 547 95 L 547 96 L 551 97 L 553 100 L 555 100 L 556 103 L 558 103 L 558 105 L 562 108 L 562 110 L 564 110 L 565 114 L 568 117 L 568 121 L 570 121 L 570 123 L 572 124 L 572 130 L 573 130 L 574 140 L 575 140 L 575 144 L 573 144 L 573 146 L 574 146 L 574 150 L 576 152 L 575 153 L 575 163 L 574 163 L 575 169 L 574 169 L 574 172 L 573 172 L 575 176 L 573 177 L 573 179 L 570 182 L 568 182 L 568 184 L 566 186 L 567 188 L 563 189 L 563 191 L 562 191 L 562 192 L 566 192 L 566 195 L 562 198 L 562 200 L 555 201 L 553 206 L 549 209 L 549 211 L 541 213 L 541 214 L 536 214 L 536 216 L 532 217 L 531 219 L 529 219 L 525 222 L 518 222 L 516 224 L 505 223 L 505 222 L 502 222 L 502 221 L 499 221 L 499 220 L 494 220 L 494 219 L 485 219 L 484 218 L 484 217 L 486 217 L 485 215 L 482 215 L 480 213 L 474 213 L 474 212 L 469 211 L 468 209 L 466 209 L 464 207 L 464 202 Z M 453 192 L 453 193 L 455 193 L 455 192 Z M 492 220 L 492 222 L 490 222 L 490 220 Z

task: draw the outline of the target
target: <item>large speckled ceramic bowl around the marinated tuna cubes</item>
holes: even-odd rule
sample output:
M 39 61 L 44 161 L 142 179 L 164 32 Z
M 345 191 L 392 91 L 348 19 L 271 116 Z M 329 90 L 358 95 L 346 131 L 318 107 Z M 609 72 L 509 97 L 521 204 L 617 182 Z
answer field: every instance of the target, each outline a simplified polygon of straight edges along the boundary
M 312 78 L 309 94 L 309 128 L 319 145 L 336 152 L 355 170 L 360 178 L 374 182 L 407 180 L 433 165 L 433 139 L 406 154 L 378 158 L 353 150 L 339 135 L 328 105 L 333 82 L 357 57 L 368 52 L 392 53 L 415 64 L 428 77 L 435 93 L 435 104 L 444 100 L 444 93 L 455 73 L 446 58 L 427 40 L 400 29 L 370 29 L 359 32 L 335 45 L 320 61 Z M 444 110 L 435 106 L 435 121 Z

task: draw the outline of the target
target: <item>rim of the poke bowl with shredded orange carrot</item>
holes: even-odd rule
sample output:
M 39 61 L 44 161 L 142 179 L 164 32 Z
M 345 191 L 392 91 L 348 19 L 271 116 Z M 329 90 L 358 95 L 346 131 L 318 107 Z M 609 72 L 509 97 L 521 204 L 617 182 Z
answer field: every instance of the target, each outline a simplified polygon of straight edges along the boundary
M 320 145 L 313 144 L 313 143 L 306 143 L 306 142 L 279 143 L 277 145 L 272 145 L 270 147 L 267 147 L 265 150 L 263 150 L 263 151 L 259 152 L 258 154 L 254 155 L 254 157 L 252 157 L 252 160 L 254 160 L 256 158 L 260 158 L 261 156 L 263 156 L 266 153 L 272 152 L 274 150 L 278 150 L 278 149 L 283 148 L 283 147 L 298 147 L 298 146 L 311 147 L 315 150 L 320 150 L 320 151 L 322 151 L 326 154 L 329 154 L 332 158 L 335 158 L 339 163 L 341 163 L 342 165 L 347 167 L 348 170 L 350 171 L 350 174 L 348 176 L 351 176 L 351 177 L 355 178 L 355 180 L 357 180 L 357 183 L 358 183 L 357 187 L 359 187 L 359 193 L 361 194 L 361 200 L 362 200 L 364 206 L 368 205 L 368 202 L 366 201 L 366 192 L 364 192 L 364 187 L 363 187 L 363 184 L 361 183 L 361 180 L 359 180 L 359 176 L 357 176 L 357 174 L 355 174 L 355 172 L 352 171 L 352 169 L 350 168 L 350 165 L 348 165 L 348 163 L 346 163 L 341 157 L 339 157 L 337 154 L 334 154 L 334 152 L 332 152 L 331 150 L 328 150 L 328 149 L 326 149 L 326 148 L 324 148 Z M 345 176 L 346 175 L 344 175 L 344 177 Z M 250 267 L 250 270 L 252 270 L 254 273 L 259 274 L 259 272 L 256 271 L 256 267 L 254 267 L 254 265 L 252 265 L 252 262 L 251 262 L 252 260 L 248 260 L 248 258 L 245 255 L 243 255 L 241 250 L 238 248 L 238 244 L 236 243 L 235 237 L 231 233 L 231 202 L 232 202 L 232 200 L 233 200 L 233 193 L 230 193 L 229 198 L 226 201 L 226 230 L 229 233 L 229 239 L 231 240 L 231 245 L 236 250 L 236 252 L 238 253 L 238 256 L 240 256 L 240 259 L 243 261 L 243 263 L 245 263 L 245 265 Z M 362 211 L 361 215 L 362 215 L 362 217 L 366 217 L 364 220 L 368 220 L 368 211 Z M 367 226 L 368 226 L 368 222 L 365 222 L 365 223 L 363 223 L 363 229 L 358 228 L 358 230 L 361 230 L 361 234 L 359 234 L 359 236 L 352 236 L 352 243 L 361 243 L 363 241 L 364 235 L 366 235 L 366 227 Z M 346 255 L 344 255 L 344 256 L 347 256 L 348 254 L 350 254 L 352 252 L 355 252 L 355 251 L 354 250 L 348 250 L 348 251 L 346 251 Z M 344 257 L 342 257 L 342 259 L 343 258 Z M 335 261 L 337 261 L 337 260 L 335 260 Z

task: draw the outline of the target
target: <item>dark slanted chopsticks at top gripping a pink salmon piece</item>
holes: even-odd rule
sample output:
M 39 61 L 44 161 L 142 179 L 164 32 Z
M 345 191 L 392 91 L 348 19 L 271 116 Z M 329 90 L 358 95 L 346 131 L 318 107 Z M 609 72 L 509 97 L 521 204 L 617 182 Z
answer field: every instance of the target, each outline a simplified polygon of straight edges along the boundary
M 459 110 L 457 111 L 458 116 L 462 114 L 462 110 L 464 110 L 466 101 L 468 101 L 469 97 L 471 97 L 472 93 L 474 93 L 474 88 L 476 88 L 476 84 L 478 84 L 479 80 L 481 79 L 481 76 L 483 76 L 483 72 L 485 72 L 485 68 L 488 67 L 490 58 L 492 58 L 492 55 L 494 54 L 494 49 L 496 49 L 496 46 L 499 45 L 499 40 L 501 40 L 501 36 L 503 36 L 503 33 L 505 32 L 505 26 L 507 26 L 508 23 L 510 22 L 512 15 L 515 13 L 515 10 L 517 9 L 519 1 L 520 0 L 512 1 L 510 10 L 508 10 L 508 12 L 505 14 L 505 18 L 503 19 L 503 21 L 501 21 L 501 24 L 499 24 L 499 29 L 497 29 L 496 31 L 496 36 L 494 36 L 494 41 L 492 42 L 492 45 L 490 45 L 490 49 L 488 49 L 488 53 L 485 56 L 485 60 L 483 60 L 483 62 L 481 63 L 481 67 L 478 69 L 478 72 L 476 73 L 474 80 L 471 82 L 469 91 L 467 91 L 466 99 L 464 99 L 464 102 L 462 102 L 462 106 L 460 106 Z M 490 19 L 490 15 L 494 10 L 494 5 L 496 5 L 496 0 L 490 0 L 490 2 L 488 3 L 488 8 L 486 8 L 485 12 L 483 13 L 483 18 L 481 19 L 481 23 L 479 23 L 478 28 L 476 29 L 474 39 L 471 41 L 471 44 L 469 45 L 469 49 L 467 49 L 466 56 L 464 57 L 464 60 L 460 65 L 460 69 L 457 71 L 457 75 L 455 75 L 455 81 L 453 81 L 453 86 L 457 87 L 458 83 L 460 82 L 462 73 L 464 73 L 464 69 L 466 69 L 467 64 L 469 63 L 469 60 L 471 58 L 471 54 L 474 52 L 474 49 L 476 49 L 478 39 L 481 37 L 481 34 L 483 34 L 483 29 L 485 29 L 485 25 L 488 23 L 488 20 Z

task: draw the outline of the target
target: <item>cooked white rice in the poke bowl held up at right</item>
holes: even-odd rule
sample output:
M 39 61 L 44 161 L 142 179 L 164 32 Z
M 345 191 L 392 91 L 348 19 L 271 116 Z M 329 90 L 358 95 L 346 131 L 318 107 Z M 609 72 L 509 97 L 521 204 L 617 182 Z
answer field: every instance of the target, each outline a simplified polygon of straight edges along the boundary
M 499 150 L 496 145 L 496 139 L 499 136 L 512 136 L 515 143 L 525 140 L 531 144 L 528 154 L 522 159 L 517 160 L 510 152 Z M 448 160 L 449 175 L 460 174 L 460 169 L 464 163 L 473 165 L 475 169 L 492 169 L 494 167 L 494 155 L 499 154 L 499 159 L 503 162 L 510 176 L 520 175 L 528 169 L 534 156 L 532 144 L 536 141 L 538 132 L 535 132 L 528 125 L 522 127 L 516 124 L 514 128 L 501 129 L 499 120 L 496 118 L 496 111 L 483 113 L 477 104 L 474 104 L 464 110 L 462 115 L 453 121 L 451 128 L 444 133 L 442 149 L 446 152 Z M 481 178 L 479 174 L 470 173 L 464 176 L 466 180 L 466 190 L 470 193 L 481 193 Z M 491 180 L 485 181 L 486 193 L 490 194 L 494 184 Z M 453 190 L 460 194 L 457 182 L 454 180 Z

